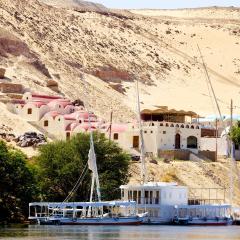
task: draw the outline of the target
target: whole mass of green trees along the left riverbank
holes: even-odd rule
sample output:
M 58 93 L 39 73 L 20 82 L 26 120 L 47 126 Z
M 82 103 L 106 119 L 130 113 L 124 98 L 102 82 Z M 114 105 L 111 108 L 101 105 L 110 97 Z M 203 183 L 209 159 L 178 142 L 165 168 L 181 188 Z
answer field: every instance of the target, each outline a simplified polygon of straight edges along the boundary
M 120 198 L 119 186 L 127 183 L 130 156 L 103 134 L 94 133 L 94 145 L 103 200 Z M 0 144 L 0 221 L 21 221 L 31 201 L 63 201 L 88 161 L 89 135 L 78 134 L 40 148 L 34 161 Z M 88 201 L 91 172 L 88 170 L 71 201 Z

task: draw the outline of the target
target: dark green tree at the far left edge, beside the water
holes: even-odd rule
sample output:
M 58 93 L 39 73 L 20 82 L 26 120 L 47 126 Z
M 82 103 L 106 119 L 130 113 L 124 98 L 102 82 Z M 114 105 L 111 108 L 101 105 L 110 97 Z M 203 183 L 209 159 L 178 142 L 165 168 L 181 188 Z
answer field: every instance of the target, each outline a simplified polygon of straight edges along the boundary
M 0 141 L 0 222 L 19 222 L 37 195 L 34 168 L 26 156 Z

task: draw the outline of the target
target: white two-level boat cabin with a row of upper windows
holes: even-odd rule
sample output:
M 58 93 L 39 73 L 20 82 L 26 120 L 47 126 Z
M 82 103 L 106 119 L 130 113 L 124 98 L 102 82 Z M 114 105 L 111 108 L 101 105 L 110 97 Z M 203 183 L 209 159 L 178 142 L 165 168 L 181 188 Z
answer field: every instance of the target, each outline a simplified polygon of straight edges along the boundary
M 177 183 L 149 182 L 120 187 L 122 201 L 136 201 L 138 213 L 148 212 L 148 223 L 169 223 L 176 205 L 188 204 L 188 188 Z

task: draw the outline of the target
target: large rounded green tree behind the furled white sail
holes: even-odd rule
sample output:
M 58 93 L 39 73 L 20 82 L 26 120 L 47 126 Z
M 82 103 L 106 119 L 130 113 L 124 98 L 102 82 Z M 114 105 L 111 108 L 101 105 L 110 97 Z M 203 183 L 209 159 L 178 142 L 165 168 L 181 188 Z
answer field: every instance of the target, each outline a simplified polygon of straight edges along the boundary
M 130 156 L 101 133 L 93 134 L 102 199 L 120 197 L 119 186 L 128 180 Z M 40 148 L 36 162 L 42 200 L 63 201 L 88 161 L 89 134 L 80 133 L 69 141 L 49 143 Z M 87 171 L 72 201 L 88 201 L 91 172 Z

